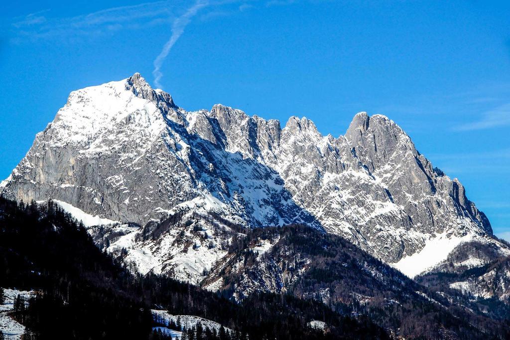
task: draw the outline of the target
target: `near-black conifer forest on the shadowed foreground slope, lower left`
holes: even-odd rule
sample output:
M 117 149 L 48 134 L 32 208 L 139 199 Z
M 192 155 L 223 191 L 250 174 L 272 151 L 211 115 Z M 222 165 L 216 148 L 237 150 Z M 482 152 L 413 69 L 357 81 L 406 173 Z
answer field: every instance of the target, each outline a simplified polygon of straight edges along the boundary
M 100 251 L 83 225 L 57 205 L 0 198 L 0 286 L 34 290 L 16 298 L 12 317 L 24 339 L 159 339 L 150 309 L 197 315 L 233 332 L 197 325 L 200 339 L 388 338 L 368 318 L 353 319 L 322 303 L 290 295 L 254 294 L 237 304 L 217 293 L 149 273 L 130 273 Z M 326 332 L 307 326 L 324 320 Z M 201 329 L 199 329 L 201 328 Z

